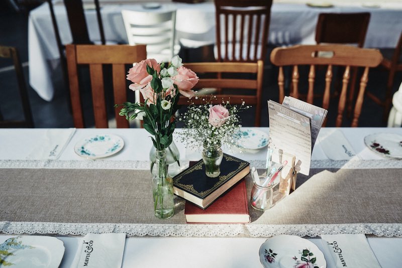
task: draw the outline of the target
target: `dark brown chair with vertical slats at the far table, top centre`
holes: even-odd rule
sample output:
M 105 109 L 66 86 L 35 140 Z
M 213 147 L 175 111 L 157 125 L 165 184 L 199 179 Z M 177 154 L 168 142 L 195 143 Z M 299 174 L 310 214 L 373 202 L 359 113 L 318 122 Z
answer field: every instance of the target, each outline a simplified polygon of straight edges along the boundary
M 265 60 L 271 5 L 272 0 L 215 0 L 218 61 Z

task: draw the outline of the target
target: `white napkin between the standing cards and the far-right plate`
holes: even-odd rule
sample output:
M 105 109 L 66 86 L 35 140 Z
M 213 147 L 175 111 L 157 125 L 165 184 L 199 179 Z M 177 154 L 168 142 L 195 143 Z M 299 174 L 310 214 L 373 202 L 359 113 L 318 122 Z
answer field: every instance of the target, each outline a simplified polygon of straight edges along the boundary
M 358 159 L 353 147 L 339 129 L 333 129 L 319 136 L 320 146 L 331 160 Z

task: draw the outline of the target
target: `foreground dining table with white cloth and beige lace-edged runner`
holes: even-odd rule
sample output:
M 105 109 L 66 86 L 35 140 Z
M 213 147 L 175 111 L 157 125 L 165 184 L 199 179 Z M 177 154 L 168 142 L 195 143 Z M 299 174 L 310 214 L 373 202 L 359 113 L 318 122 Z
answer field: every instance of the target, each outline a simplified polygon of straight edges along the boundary
M 248 129 L 269 135 L 268 127 Z M 183 170 L 200 159 L 200 152 L 185 147 L 180 131 L 175 130 L 173 140 Z M 92 159 L 78 153 L 83 141 L 105 135 L 122 139 L 119 152 Z M 402 160 L 392 155 L 395 148 L 385 148 L 390 154 L 373 150 L 368 137 L 379 141 L 381 135 L 402 137 L 402 129 L 323 127 L 310 174 L 297 174 L 295 190 L 274 207 L 259 211 L 248 202 L 247 224 L 188 224 L 185 200 L 178 196 L 173 217 L 153 215 L 153 145 L 145 129 L 0 129 L 0 240 L 55 236 L 65 247 L 60 267 L 71 267 L 82 236 L 125 233 L 122 267 L 240 268 L 262 267 L 260 246 L 279 234 L 305 237 L 323 252 L 321 235 L 365 234 L 380 265 L 398 267 Z M 266 164 L 266 146 L 228 146 L 224 152 L 260 172 Z M 245 181 L 250 200 L 250 174 Z

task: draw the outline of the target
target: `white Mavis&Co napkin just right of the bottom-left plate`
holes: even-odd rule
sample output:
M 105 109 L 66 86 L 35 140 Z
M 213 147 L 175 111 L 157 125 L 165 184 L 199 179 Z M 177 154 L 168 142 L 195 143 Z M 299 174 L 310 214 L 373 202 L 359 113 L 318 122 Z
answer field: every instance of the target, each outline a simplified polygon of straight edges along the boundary
M 80 241 L 71 267 L 120 268 L 125 243 L 125 233 L 88 233 Z

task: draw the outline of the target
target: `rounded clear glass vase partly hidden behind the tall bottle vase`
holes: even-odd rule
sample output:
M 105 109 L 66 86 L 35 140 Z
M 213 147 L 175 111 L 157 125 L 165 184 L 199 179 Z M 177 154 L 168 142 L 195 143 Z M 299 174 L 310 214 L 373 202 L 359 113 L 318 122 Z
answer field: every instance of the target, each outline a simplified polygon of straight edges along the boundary
M 169 147 L 166 148 L 165 151 L 166 151 L 167 174 L 171 177 L 174 177 L 177 174 L 179 174 L 181 171 L 179 150 L 177 149 L 174 142 L 172 142 L 169 145 Z M 155 174 L 155 172 L 156 172 L 155 153 L 156 153 L 156 148 L 154 146 L 152 146 L 151 150 L 149 151 L 149 159 L 151 161 L 151 173 L 152 174 Z

